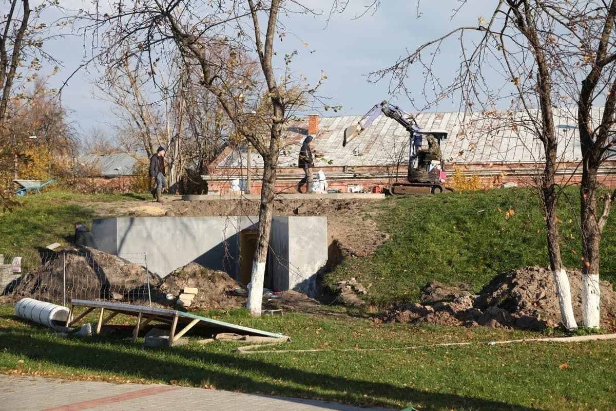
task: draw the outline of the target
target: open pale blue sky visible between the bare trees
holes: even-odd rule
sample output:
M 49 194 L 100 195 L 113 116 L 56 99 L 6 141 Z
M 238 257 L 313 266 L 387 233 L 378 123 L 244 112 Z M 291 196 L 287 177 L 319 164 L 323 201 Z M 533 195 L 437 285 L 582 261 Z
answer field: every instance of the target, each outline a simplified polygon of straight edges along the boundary
M 80 7 L 78 0 L 70 2 L 67 7 Z M 417 3 L 411 0 L 385 0 L 376 10 L 363 17 L 366 4 L 371 0 L 351 0 L 344 13 L 333 14 L 327 21 L 331 0 L 306 0 L 306 4 L 315 10 L 322 10 L 321 15 L 293 14 L 283 16 L 282 22 L 288 30 L 283 41 L 277 41 L 278 66 L 282 56 L 293 50 L 299 54 L 292 62 L 296 75 L 302 74 L 309 83 L 315 84 L 322 71 L 327 79 L 320 89 L 320 95 L 328 98 L 330 105 L 341 105 L 342 110 L 333 113 L 324 111 L 322 105 L 315 105 L 314 112 L 321 115 L 362 115 L 370 108 L 389 100 L 401 108 L 415 112 L 407 96 L 392 97 L 388 94 L 389 83 L 383 79 L 376 84 L 368 83 L 367 74 L 391 65 L 406 49 L 415 49 L 420 44 L 443 35 L 453 26 L 476 25 L 480 17 L 478 10 L 490 10 L 491 0 L 472 0 L 472 7 L 466 6 L 452 19 L 453 9 L 459 0 L 421 1 L 417 17 Z M 485 7 L 483 7 L 485 6 Z M 304 43 L 307 46 L 304 46 Z M 85 43 L 88 44 L 88 43 Z M 68 36 L 46 45 L 47 50 L 56 59 L 62 60 L 63 67 L 51 79 L 49 87 L 59 87 L 88 54 L 84 51 L 84 39 Z M 440 65 L 437 75 L 446 80 L 453 78 L 455 67 L 460 61 L 459 44 L 452 42 L 442 49 L 442 54 L 450 57 L 452 64 Z M 313 52 L 310 52 L 313 51 Z M 423 86 L 421 71 L 411 73 L 408 85 L 413 89 L 417 82 L 417 91 Z M 92 128 L 102 129 L 112 136 L 115 133 L 115 118 L 107 102 L 93 95 L 92 82 L 97 80 L 94 67 L 80 70 L 68 81 L 62 92 L 62 104 L 70 110 L 70 119 L 79 134 L 86 136 Z M 419 94 L 418 94 L 419 97 Z M 458 110 L 459 101 L 445 101 L 431 111 Z

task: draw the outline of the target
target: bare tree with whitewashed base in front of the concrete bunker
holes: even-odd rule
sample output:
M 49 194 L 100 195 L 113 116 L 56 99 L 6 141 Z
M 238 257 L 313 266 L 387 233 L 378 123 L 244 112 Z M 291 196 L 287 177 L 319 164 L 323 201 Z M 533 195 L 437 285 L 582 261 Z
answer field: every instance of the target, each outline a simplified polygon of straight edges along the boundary
M 91 16 L 98 28 L 111 23 L 105 32 L 108 55 L 116 56 L 118 49 L 131 44 L 126 58 L 139 59 L 153 79 L 164 59 L 168 62 L 175 51 L 188 65 L 197 62 L 200 85 L 216 97 L 235 132 L 263 158 L 259 237 L 247 304 L 251 315 L 261 315 L 276 168 L 283 145 L 283 125 L 288 107 L 293 104 L 285 100 L 283 92 L 291 76 L 283 73 L 278 83 L 273 62 L 274 41 L 280 28 L 278 17 L 286 3 L 295 12 L 309 11 L 299 2 L 285 0 L 217 0 L 208 2 L 208 7 L 183 0 L 150 0 L 118 7 L 113 15 Z M 213 58 L 212 51 L 225 52 L 228 58 Z M 254 55 L 258 73 L 237 70 L 238 65 L 246 64 L 237 59 L 241 53 Z M 287 65 L 290 60 L 291 56 L 285 57 Z M 113 57 L 108 63 L 117 63 L 117 59 Z M 230 86 L 240 82 L 240 88 Z M 249 115 L 253 110 L 256 115 Z M 257 119 L 259 116 L 262 121 Z M 266 132 L 260 125 L 267 126 Z

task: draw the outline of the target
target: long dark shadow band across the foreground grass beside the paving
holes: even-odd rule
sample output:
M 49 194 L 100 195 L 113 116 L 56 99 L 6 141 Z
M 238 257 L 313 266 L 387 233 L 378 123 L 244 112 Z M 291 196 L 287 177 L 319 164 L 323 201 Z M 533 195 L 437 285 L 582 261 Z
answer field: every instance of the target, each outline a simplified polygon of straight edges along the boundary
M 13 318 L 16 319 L 16 317 Z M 163 381 L 163 383 L 176 380 L 181 385 L 215 386 L 217 389 L 229 391 L 296 398 L 317 397 L 324 401 L 360 405 L 367 405 L 373 396 L 376 397 L 375 401 L 378 401 L 378 397 L 387 397 L 390 401 L 381 402 L 379 405 L 395 407 L 395 403 L 410 402 L 421 404 L 424 410 L 537 410 L 487 399 L 456 394 L 428 393 L 375 381 L 351 380 L 341 376 L 267 363 L 252 357 L 195 351 L 185 347 L 177 347 L 170 352 L 165 352 L 164 355 L 169 358 L 163 359 L 156 357 L 155 353 L 158 351 L 137 348 L 131 343 L 119 343 L 117 340 L 107 340 L 102 337 L 91 341 L 91 346 L 76 347 L 75 344 L 63 344 L 62 341 L 40 338 L 36 333 L 28 330 L 23 330 L 23 332 L 12 330 L 4 332 L 0 341 L 0 348 L 31 360 L 44 360 L 77 370 L 87 367 L 92 372 L 121 373 L 131 378 L 148 378 Z M 113 341 L 115 347 L 95 346 L 97 343 L 107 341 Z M 284 381 L 291 386 L 277 385 L 265 381 L 265 378 Z M 318 388 L 321 392 L 315 393 L 309 388 Z M 338 391 L 339 394 L 329 394 L 332 390 Z M 363 397 L 365 394 L 368 394 L 368 397 Z M 297 401 L 301 402 L 299 399 Z M 331 404 L 331 409 L 337 409 L 336 405 Z

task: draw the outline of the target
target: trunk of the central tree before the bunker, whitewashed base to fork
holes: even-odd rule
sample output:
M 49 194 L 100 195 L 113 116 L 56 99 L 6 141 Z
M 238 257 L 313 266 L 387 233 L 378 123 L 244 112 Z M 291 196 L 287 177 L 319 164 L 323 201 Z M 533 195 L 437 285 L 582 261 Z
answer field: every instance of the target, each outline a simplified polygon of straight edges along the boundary
M 277 156 L 275 156 L 277 157 Z M 261 315 L 263 301 L 263 280 L 265 279 L 265 262 L 269 249 L 269 236 L 272 229 L 272 213 L 274 208 L 274 183 L 276 181 L 276 167 L 272 158 L 264 158 L 263 186 L 261 189 L 261 207 L 259 208 L 259 240 L 254 250 L 253 271 L 250 277 L 248 302 L 246 310 L 253 317 Z

